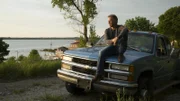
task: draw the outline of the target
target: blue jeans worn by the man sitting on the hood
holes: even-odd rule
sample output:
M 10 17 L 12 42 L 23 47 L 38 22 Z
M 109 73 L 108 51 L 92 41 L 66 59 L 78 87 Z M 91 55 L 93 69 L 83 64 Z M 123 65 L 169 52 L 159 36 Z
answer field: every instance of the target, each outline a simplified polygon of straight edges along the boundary
M 126 51 L 126 48 L 127 47 L 110 45 L 101 49 L 99 51 L 96 75 L 103 75 L 104 64 L 107 57 L 112 56 L 112 55 L 124 54 L 124 52 Z

